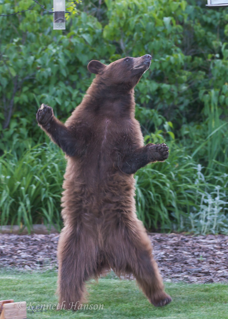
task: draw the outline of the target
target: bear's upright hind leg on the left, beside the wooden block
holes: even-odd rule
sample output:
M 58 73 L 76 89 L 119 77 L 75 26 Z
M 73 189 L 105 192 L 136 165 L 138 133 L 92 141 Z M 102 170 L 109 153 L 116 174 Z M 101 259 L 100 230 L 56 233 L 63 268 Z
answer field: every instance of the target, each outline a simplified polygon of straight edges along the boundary
M 94 276 L 96 249 L 88 234 L 82 236 L 64 227 L 59 238 L 58 309 L 77 310 L 85 302 L 85 281 Z

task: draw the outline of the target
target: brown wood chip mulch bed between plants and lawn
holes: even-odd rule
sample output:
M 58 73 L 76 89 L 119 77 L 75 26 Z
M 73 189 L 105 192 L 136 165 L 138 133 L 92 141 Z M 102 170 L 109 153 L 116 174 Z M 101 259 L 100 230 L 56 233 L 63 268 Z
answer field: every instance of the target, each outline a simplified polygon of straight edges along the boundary
M 228 236 L 154 233 L 149 237 L 164 281 L 228 282 Z M 0 234 L 0 268 L 57 269 L 58 238 L 58 234 Z

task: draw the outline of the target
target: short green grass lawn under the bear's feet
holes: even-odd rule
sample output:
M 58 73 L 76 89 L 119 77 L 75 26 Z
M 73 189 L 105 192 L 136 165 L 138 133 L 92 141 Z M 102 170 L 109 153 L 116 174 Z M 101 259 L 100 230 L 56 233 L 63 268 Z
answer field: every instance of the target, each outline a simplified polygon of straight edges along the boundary
M 57 274 L 47 272 L 0 271 L 0 300 L 32 302 L 36 305 L 55 305 Z M 165 290 L 173 302 L 162 308 L 152 306 L 134 281 L 120 280 L 109 275 L 98 283 L 87 285 L 88 304 L 98 305 L 97 310 L 47 310 L 27 318 L 107 318 L 107 319 L 228 319 L 228 284 L 167 283 Z M 104 305 L 99 310 L 99 305 Z M 92 306 L 93 307 L 93 306 Z M 54 306 L 55 308 L 55 306 Z

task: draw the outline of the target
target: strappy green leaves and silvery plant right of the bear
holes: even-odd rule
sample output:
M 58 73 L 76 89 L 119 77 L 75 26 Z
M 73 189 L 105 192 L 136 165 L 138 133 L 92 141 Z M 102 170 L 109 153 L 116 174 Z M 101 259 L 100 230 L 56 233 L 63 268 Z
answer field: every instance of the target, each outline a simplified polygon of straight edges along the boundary
M 138 217 L 149 229 L 162 232 L 227 234 L 228 174 L 210 169 L 204 175 L 204 167 L 185 149 L 174 142 L 169 146 L 164 163 L 147 165 L 136 173 Z

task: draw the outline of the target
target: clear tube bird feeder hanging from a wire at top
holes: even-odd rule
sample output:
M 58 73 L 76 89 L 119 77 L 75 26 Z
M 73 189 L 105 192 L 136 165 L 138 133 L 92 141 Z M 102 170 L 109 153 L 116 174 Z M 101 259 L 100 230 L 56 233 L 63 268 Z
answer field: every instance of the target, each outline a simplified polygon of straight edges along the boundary
M 65 10 L 66 2 L 65 0 L 53 0 L 53 30 L 65 30 L 66 20 L 65 20 Z

